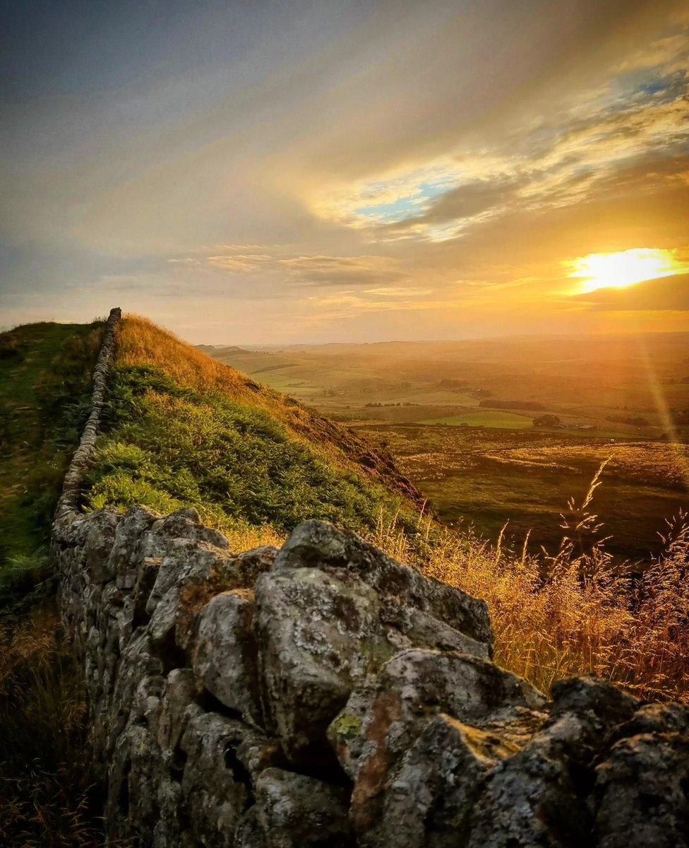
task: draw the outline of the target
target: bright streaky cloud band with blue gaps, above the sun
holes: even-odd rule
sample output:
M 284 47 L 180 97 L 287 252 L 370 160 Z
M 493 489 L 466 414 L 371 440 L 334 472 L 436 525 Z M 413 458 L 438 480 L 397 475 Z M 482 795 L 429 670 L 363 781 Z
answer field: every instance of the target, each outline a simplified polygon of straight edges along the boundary
M 686 175 L 689 29 L 652 43 L 607 85 L 481 148 L 331 189 L 314 211 L 372 240 L 443 241 L 498 218 L 648 192 Z M 630 176 L 636 175 L 636 182 Z

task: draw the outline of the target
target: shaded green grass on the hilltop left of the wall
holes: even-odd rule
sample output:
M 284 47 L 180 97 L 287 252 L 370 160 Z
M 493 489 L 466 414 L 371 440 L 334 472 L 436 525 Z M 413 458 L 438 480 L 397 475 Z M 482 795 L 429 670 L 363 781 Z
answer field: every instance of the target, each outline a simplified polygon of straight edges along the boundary
M 0 335 L 0 608 L 47 577 L 49 525 L 89 413 L 99 343 L 96 325 Z

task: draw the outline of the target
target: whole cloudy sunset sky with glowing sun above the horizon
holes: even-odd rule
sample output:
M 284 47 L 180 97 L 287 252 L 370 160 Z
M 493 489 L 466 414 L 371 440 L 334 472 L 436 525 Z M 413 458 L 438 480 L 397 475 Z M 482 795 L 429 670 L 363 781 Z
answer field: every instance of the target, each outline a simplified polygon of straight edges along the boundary
M 689 330 L 686 9 L 3 2 L 0 326 Z

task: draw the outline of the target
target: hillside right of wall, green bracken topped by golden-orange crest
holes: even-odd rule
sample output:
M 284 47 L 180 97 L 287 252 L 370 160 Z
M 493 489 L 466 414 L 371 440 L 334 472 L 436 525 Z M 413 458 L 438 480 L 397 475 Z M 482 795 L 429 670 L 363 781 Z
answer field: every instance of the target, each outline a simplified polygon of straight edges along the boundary
M 120 326 L 106 417 L 92 509 L 193 505 L 237 547 L 314 517 L 418 523 L 420 495 L 384 451 L 145 319 Z

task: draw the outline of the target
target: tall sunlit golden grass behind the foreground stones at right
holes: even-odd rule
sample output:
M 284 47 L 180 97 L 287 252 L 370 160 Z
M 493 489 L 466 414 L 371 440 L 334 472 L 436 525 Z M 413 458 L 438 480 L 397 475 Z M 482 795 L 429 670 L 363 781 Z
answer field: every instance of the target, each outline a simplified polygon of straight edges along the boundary
M 421 519 L 428 553 L 414 554 L 395 522 L 370 540 L 422 572 L 487 601 L 497 664 L 547 692 L 594 674 L 648 700 L 689 703 L 689 524 L 669 528 L 664 555 L 641 577 L 611 566 L 604 541 L 586 544 L 595 516 L 564 528 L 554 557 L 504 550 L 471 535 L 438 534 Z M 581 527 L 581 522 L 584 526 Z M 578 531 L 578 534 L 577 534 Z

